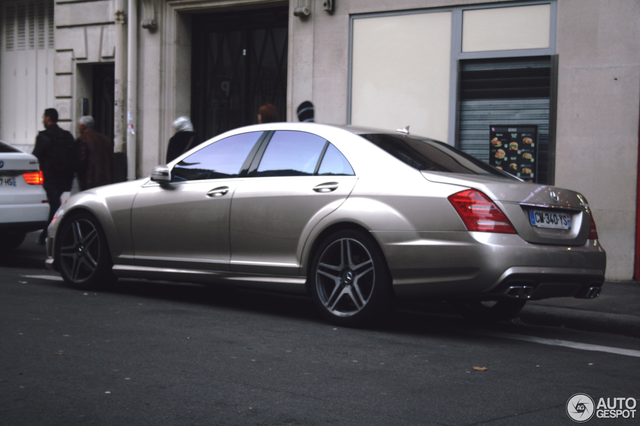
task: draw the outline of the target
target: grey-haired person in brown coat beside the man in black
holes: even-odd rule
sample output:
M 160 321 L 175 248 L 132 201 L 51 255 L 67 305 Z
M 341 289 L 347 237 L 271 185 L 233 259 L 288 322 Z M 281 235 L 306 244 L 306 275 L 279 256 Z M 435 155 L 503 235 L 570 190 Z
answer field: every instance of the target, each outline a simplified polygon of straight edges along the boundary
M 80 137 L 76 143 L 80 157 L 80 190 L 113 184 L 113 141 L 95 130 L 95 122 L 90 115 L 80 118 L 78 130 Z

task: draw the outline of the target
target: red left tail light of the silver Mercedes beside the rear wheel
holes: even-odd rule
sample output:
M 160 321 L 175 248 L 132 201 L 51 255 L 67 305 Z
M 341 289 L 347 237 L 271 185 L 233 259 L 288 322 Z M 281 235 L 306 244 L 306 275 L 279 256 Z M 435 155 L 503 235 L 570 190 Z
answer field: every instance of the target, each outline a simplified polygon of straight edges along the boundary
M 452 194 L 449 202 L 470 231 L 517 233 L 502 210 L 477 189 Z

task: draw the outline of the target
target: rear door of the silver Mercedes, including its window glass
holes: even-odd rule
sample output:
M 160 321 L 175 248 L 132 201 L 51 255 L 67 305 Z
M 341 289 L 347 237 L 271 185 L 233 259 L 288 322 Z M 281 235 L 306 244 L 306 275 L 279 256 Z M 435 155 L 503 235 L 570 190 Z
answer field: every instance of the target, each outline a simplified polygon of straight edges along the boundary
M 234 193 L 231 271 L 298 275 L 305 235 L 346 200 L 356 180 L 332 143 L 277 130 Z

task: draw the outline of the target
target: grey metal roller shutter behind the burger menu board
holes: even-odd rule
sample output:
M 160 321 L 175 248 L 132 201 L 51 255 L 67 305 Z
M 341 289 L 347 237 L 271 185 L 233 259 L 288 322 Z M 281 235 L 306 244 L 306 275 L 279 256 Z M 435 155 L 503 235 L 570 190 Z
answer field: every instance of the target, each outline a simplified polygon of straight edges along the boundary
M 490 125 L 538 125 L 538 177 L 548 177 L 551 60 L 472 59 L 460 64 L 458 147 L 489 161 Z

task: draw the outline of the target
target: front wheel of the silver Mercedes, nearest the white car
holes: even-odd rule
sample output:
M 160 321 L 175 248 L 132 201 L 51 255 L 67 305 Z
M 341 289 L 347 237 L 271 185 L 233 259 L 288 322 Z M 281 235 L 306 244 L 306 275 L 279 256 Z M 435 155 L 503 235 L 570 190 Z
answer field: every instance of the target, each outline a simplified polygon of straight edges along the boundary
M 63 280 L 73 288 L 97 290 L 116 280 L 102 226 L 87 212 L 62 225 L 56 237 L 56 258 Z

